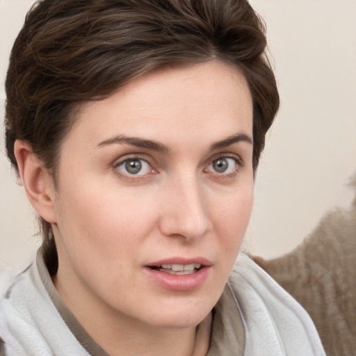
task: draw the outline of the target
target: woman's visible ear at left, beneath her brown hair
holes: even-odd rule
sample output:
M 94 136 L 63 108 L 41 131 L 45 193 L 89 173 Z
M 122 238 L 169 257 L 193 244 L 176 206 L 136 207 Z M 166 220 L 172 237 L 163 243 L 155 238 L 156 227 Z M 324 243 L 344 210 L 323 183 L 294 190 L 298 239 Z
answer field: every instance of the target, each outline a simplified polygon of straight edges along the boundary
M 55 224 L 54 199 L 56 194 L 52 177 L 47 169 L 40 165 L 31 145 L 22 140 L 16 140 L 14 150 L 19 175 L 29 201 L 44 220 Z

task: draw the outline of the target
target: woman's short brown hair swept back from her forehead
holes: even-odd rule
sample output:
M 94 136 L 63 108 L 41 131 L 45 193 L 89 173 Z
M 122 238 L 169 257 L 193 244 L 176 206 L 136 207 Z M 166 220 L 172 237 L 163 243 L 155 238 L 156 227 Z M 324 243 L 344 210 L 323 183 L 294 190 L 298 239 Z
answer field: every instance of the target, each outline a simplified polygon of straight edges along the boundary
M 236 65 L 253 102 L 257 168 L 279 96 L 264 22 L 245 0 L 40 0 L 29 11 L 6 77 L 6 149 L 25 140 L 54 179 L 75 108 L 172 64 Z M 44 243 L 51 225 L 41 219 Z

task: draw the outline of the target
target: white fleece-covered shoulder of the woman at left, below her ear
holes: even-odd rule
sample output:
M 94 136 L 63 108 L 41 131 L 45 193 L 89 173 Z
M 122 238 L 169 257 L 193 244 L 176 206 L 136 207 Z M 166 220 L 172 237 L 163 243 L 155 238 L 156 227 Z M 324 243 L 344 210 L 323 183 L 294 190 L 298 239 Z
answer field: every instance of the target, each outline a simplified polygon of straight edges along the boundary
M 95 348 L 95 341 L 90 337 L 83 337 L 79 323 L 63 302 L 56 303 L 56 291 L 45 268 L 39 251 L 35 261 L 22 273 L 1 272 L 0 355 L 107 355 L 99 346 Z M 63 314 L 67 315 L 66 321 Z M 75 335 L 70 323 L 74 325 Z M 85 342 L 81 343 L 80 337 Z M 89 353 L 89 347 L 95 351 Z

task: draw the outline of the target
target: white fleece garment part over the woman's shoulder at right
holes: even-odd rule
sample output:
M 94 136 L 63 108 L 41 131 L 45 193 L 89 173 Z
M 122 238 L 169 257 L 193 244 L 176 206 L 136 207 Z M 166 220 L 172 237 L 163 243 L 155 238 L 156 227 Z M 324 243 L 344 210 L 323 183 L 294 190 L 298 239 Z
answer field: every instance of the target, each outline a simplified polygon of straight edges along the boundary
M 246 254 L 228 283 L 245 325 L 245 355 L 325 355 L 305 309 Z

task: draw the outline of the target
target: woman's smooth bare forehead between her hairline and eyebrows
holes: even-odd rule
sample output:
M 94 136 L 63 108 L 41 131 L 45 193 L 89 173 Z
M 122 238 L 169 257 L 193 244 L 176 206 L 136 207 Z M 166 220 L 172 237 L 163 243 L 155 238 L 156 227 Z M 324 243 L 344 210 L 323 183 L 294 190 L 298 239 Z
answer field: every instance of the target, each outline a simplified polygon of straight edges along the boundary
M 125 134 L 179 142 L 252 134 L 252 98 L 237 67 L 211 61 L 169 67 L 134 79 L 110 97 L 83 104 L 69 136 L 87 142 Z M 151 137 L 152 136 L 152 137 Z

